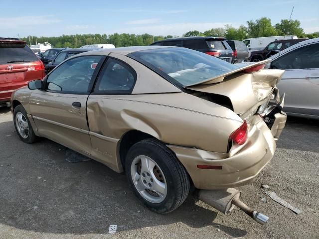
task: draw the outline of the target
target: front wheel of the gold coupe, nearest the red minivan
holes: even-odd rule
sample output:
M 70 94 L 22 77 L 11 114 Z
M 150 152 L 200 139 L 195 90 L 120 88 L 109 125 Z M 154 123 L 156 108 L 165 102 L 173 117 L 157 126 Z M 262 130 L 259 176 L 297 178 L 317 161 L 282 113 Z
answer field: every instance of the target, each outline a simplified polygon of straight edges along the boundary
M 13 123 L 15 131 L 25 143 L 34 143 L 37 136 L 34 134 L 30 121 L 22 105 L 18 105 L 13 111 Z

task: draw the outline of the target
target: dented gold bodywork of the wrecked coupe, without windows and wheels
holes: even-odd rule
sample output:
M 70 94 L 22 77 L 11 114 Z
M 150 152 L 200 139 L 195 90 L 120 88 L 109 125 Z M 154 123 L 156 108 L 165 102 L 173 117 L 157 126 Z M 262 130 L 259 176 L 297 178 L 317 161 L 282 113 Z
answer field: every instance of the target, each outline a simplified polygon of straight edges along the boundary
M 23 88 L 12 94 L 12 110 L 22 104 L 36 135 L 117 172 L 123 171 L 125 159 L 120 158 L 119 150 L 124 135 L 139 131 L 165 143 L 196 188 L 229 188 L 254 180 L 273 157 L 275 140 L 285 126 L 282 107 L 268 106 L 271 97 L 279 104 L 276 84 L 283 71 L 244 73 L 243 69 L 248 69 L 245 67 L 218 76 L 217 81 L 199 82 L 185 90 L 127 56 L 149 48 L 154 46 L 97 50 L 75 56 L 105 55 L 130 65 L 136 72 L 131 94 L 72 95 Z M 216 96 L 224 98 L 217 101 Z M 224 102 L 225 98 L 229 103 Z M 81 103 L 81 107 L 72 107 L 74 102 Z M 270 112 L 259 116 L 257 111 L 262 105 L 263 112 Z M 230 135 L 244 121 L 248 123 L 247 141 L 235 145 Z M 221 169 L 199 169 L 199 164 Z

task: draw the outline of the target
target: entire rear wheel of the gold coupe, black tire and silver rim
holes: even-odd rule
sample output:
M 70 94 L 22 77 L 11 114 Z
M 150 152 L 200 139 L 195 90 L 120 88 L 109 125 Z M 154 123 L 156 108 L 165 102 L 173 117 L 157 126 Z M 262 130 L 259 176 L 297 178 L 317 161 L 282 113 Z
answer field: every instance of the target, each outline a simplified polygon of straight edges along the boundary
M 190 181 L 185 168 L 175 154 L 157 139 L 135 143 L 126 156 L 125 166 L 135 195 L 152 211 L 169 213 L 188 196 Z

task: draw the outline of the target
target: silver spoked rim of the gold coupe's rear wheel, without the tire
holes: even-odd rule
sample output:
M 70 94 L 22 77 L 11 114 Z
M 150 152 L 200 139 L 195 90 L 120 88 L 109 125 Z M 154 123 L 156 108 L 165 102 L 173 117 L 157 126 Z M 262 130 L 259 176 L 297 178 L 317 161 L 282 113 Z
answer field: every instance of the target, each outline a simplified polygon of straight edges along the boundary
M 162 202 L 167 195 L 165 177 L 159 165 L 150 157 L 139 155 L 131 165 L 135 188 L 151 203 Z

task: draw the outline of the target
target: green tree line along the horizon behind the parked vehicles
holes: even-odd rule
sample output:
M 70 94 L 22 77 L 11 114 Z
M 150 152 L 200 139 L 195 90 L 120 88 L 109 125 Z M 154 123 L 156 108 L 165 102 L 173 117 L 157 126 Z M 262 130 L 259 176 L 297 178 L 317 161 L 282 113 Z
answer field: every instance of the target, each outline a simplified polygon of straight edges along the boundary
M 211 28 L 204 32 L 197 30 L 188 31 L 183 36 L 218 36 L 226 37 L 230 40 L 243 40 L 252 37 L 265 37 L 277 35 L 297 35 L 298 37 L 319 37 L 319 32 L 305 34 L 304 29 L 300 26 L 299 20 L 282 19 L 280 23 L 272 25 L 271 19 L 261 17 L 255 21 L 247 21 L 247 26 L 240 25 L 238 28 L 232 25 L 225 25 L 225 27 Z M 54 47 L 70 47 L 78 48 L 83 45 L 90 44 L 114 44 L 116 47 L 122 46 L 141 46 L 150 45 L 154 41 L 172 38 L 173 36 L 154 36 L 150 34 L 128 34 L 128 33 L 114 33 L 114 34 L 75 34 L 62 35 L 53 37 L 36 37 L 27 36 L 21 38 L 28 44 L 34 45 L 37 43 L 49 42 Z

